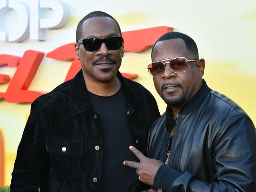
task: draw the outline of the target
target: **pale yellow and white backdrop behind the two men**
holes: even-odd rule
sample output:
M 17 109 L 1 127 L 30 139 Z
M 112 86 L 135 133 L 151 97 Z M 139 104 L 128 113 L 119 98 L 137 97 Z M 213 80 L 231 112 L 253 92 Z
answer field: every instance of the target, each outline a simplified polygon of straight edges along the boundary
M 26 40 L 0 42 L 0 54 L 22 56 L 28 49 L 49 53 L 75 41 L 79 20 L 93 10 L 102 10 L 120 24 L 122 31 L 168 26 L 191 36 L 198 45 L 199 55 L 206 60 L 204 79 L 210 88 L 236 101 L 256 123 L 256 1 L 246 0 L 148 0 L 120 1 L 63 0 L 69 7 L 68 23 L 58 29 L 46 29 L 44 41 Z M 29 4 L 29 0 L 24 0 Z M 46 14 L 53 15 L 51 10 Z M 10 16 L 13 18 L 9 20 Z M 3 16 L 2 16 L 3 17 Z M 3 19 L 9 30 L 15 29 L 18 16 L 13 10 Z M 155 91 L 146 70 L 151 49 L 141 53 L 126 52 L 120 68 L 124 73 L 137 73 L 134 81 L 143 84 L 155 96 L 161 113 L 165 103 Z M 44 58 L 29 90 L 51 91 L 64 82 L 71 62 Z M 15 73 L 16 68 L 0 66 L 0 73 Z M 0 84 L 5 92 L 9 83 Z M 4 184 L 10 183 L 17 147 L 27 121 L 31 103 L 8 103 L 0 100 L 0 129 L 4 140 Z M 1 141 L 1 138 L 0 138 Z M 1 143 L 0 143 L 1 150 Z M 0 155 L 1 157 L 1 155 Z M 1 163 L 1 159 L 0 159 Z M 1 170 L 1 169 L 0 169 Z M 3 173 L 0 173 L 3 175 Z M 1 184 L 1 183 L 0 183 Z

